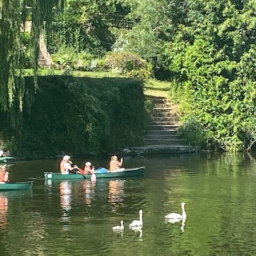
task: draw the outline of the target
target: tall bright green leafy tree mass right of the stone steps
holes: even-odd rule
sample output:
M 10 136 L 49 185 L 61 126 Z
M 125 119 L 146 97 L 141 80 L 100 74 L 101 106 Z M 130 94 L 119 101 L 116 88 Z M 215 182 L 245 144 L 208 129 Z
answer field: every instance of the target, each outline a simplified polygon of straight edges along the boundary
M 256 23 L 251 4 L 189 1 L 191 22 L 177 24 L 180 30 L 163 45 L 185 125 L 196 116 L 205 143 L 227 151 L 248 147 L 255 130 Z

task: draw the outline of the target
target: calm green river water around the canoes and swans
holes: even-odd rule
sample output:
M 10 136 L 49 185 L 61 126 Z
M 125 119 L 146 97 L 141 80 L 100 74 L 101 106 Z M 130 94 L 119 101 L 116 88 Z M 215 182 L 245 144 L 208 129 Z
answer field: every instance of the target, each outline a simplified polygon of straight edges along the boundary
M 73 159 L 107 167 L 107 158 Z M 0 255 L 256 255 L 256 160 L 193 154 L 125 158 L 142 177 L 45 182 L 59 159 L 17 162 L 12 181 L 33 190 L 0 192 Z M 186 221 L 166 223 L 170 212 Z M 143 210 L 143 228 L 129 229 Z M 124 221 L 123 233 L 112 227 Z

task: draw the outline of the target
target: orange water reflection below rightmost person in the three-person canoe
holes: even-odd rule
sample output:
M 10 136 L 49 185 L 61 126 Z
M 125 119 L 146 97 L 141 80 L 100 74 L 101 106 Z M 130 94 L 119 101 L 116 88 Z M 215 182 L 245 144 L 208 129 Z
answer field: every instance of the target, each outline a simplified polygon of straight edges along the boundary
M 124 201 L 124 180 L 110 180 L 108 185 L 108 202 L 111 205 L 111 211 L 116 212 Z

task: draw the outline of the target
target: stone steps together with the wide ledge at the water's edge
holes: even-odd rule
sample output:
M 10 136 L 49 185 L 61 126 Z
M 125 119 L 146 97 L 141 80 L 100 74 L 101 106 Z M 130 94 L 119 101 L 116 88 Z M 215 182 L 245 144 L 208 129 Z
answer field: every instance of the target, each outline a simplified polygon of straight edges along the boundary
M 179 137 L 180 117 L 177 105 L 166 98 L 153 98 L 154 112 L 143 145 L 123 149 L 126 155 L 177 154 L 197 152 Z

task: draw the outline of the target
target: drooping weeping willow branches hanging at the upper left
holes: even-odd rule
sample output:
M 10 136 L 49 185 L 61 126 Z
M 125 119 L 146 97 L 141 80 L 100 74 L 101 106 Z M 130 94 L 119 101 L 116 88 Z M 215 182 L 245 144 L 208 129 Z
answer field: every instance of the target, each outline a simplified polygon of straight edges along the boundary
M 54 6 L 63 6 L 64 0 L 0 0 L 0 111 L 9 114 L 10 124 L 18 123 L 23 101 L 31 105 L 37 88 L 38 38 L 43 26 L 52 20 Z M 34 88 L 26 88 L 21 66 L 21 24 L 32 21 L 31 66 Z

